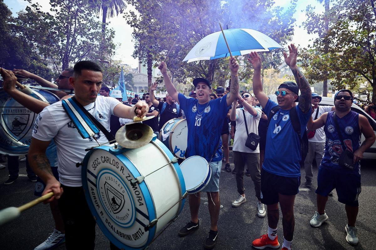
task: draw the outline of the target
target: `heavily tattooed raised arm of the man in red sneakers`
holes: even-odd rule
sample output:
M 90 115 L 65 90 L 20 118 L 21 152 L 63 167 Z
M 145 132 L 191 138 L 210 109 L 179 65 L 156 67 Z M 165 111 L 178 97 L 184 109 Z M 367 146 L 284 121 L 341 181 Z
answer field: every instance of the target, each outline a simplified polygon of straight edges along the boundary
M 286 52 L 283 52 L 283 56 L 285 57 L 285 63 L 290 67 L 291 71 L 294 74 L 296 84 L 300 90 L 299 96 L 299 108 L 303 113 L 306 113 L 311 108 L 312 104 L 312 92 L 311 87 L 303 73 L 299 70 L 298 66 L 296 65 L 296 57 L 298 55 L 298 49 L 295 47 L 293 43 L 288 46 L 289 55 L 287 56 Z

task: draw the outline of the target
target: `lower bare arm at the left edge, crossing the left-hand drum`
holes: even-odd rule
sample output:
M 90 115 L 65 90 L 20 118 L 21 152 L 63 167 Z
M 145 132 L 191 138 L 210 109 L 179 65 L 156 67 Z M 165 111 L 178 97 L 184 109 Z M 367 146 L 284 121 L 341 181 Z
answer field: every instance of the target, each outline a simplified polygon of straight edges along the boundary
M 17 88 L 15 88 L 17 77 L 11 70 L 0 69 L 0 73 L 3 77 L 3 89 L 9 94 L 14 100 L 23 105 L 24 107 L 30 109 L 35 113 L 40 113 L 46 106 L 49 105 L 47 102 L 38 100 L 28 94 L 25 94 Z

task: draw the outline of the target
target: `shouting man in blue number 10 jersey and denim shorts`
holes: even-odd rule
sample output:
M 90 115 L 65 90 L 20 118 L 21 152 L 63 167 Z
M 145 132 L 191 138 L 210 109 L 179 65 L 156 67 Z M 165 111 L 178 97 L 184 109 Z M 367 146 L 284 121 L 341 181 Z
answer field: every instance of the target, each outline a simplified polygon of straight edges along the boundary
M 168 94 L 174 100 L 178 100 L 180 108 L 183 109 L 188 125 L 188 141 L 185 152 L 186 157 L 202 156 L 211 168 L 212 175 L 209 184 L 202 191 L 208 195 L 208 206 L 211 220 L 209 236 L 205 240 L 204 247 L 211 249 L 218 240 L 217 222 L 219 208 L 221 205 L 219 198 L 219 177 L 222 161 L 216 157 L 217 148 L 220 144 L 221 129 L 223 120 L 226 117 L 232 102 L 239 92 L 238 69 L 239 64 L 235 57 L 230 58 L 229 68 L 231 73 L 230 93 L 221 98 L 210 100 L 212 92 L 211 84 L 207 79 L 195 78 L 193 85 L 196 87 L 197 99 L 184 96 L 176 91 L 167 74 L 167 67 L 164 62 L 159 64 L 158 69 L 164 78 L 164 83 Z M 226 142 L 227 143 L 227 142 Z M 219 156 L 220 154 L 218 154 Z M 183 237 L 199 228 L 199 207 L 200 193 L 189 195 L 191 211 L 191 221 L 179 231 L 179 236 Z

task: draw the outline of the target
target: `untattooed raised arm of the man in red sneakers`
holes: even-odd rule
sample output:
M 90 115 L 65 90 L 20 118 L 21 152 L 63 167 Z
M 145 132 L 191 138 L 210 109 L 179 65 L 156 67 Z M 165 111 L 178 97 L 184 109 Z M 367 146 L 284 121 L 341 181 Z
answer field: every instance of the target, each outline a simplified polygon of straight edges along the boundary
M 251 52 L 249 54 L 250 58 L 248 61 L 252 63 L 253 66 L 253 94 L 255 94 L 256 98 L 259 100 L 262 108 L 265 108 L 266 103 L 268 102 L 269 98 L 266 96 L 265 92 L 262 90 L 262 81 L 261 81 L 261 57 L 257 54 L 257 52 Z

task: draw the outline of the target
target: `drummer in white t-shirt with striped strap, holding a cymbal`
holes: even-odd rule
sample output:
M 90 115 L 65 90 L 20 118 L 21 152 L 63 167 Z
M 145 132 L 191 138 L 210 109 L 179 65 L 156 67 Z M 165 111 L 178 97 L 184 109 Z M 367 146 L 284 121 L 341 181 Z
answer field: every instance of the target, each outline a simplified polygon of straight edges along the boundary
M 80 61 L 73 68 L 73 76 L 69 78 L 74 88 L 76 100 L 93 116 L 105 129 L 110 128 L 112 114 L 122 118 L 144 117 L 148 106 L 138 102 L 134 107 L 123 105 L 112 97 L 98 96 L 102 86 L 102 71 L 91 61 Z M 97 133 L 98 143 L 108 142 L 102 132 Z M 98 145 L 94 138 L 83 139 L 76 127 L 73 126 L 65 113 L 62 102 L 47 106 L 39 113 L 32 135 L 29 149 L 29 162 L 35 173 L 46 183 L 43 195 L 54 192 L 47 200 L 58 199 L 65 225 L 67 249 L 94 249 L 95 220 L 93 219 L 82 189 L 81 167 L 85 149 Z M 54 138 L 58 151 L 59 178 L 53 177 L 45 150 Z M 111 249 L 115 249 L 114 245 Z

